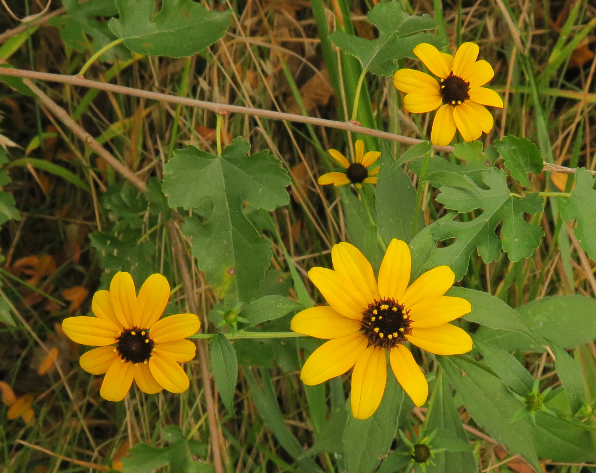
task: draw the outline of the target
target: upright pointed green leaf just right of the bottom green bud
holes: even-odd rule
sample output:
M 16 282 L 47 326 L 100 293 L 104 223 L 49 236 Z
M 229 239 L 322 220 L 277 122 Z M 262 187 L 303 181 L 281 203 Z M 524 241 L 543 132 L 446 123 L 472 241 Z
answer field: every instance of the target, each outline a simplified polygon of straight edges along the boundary
M 460 413 L 455 407 L 451 391 L 451 385 L 445 378 L 445 373 L 439 369 L 429 401 L 426 429 L 440 429 L 431 444 L 434 448 L 445 448 L 448 451 L 436 453 L 434 457 L 434 463 L 437 465 L 436 471 L 476 473 L 478 471 L 476 460 L 473 453 L 467 451 L 470 450 L 470 441 L 462 426 Z M 451 434 L 455 437 L 455 441 L 449 441 L 448 436 L 442 435 L 441 432 Z M 458 448 L 457 440 L 462 444 L 460 446 L 462 450 L 455 450 Z

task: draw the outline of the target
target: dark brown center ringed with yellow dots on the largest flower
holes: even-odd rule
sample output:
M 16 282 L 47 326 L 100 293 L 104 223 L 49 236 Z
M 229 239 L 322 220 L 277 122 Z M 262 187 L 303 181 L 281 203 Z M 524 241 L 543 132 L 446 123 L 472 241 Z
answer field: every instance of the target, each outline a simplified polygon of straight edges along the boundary
M 409 311 L 395 299 L 381 299 L 368 305 L 362 313 L 360 331 L 368 344 L 377 348 L 392 348 L 403 344 L 412 333 Z

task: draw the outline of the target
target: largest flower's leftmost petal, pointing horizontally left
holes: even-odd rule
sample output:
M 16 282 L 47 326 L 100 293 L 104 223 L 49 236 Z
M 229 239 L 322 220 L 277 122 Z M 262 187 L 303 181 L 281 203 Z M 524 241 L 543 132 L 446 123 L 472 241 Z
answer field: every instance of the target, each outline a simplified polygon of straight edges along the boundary
M 311 307 L 297 313 L 290 324 L 294 332 L 315 338 L 340 338 L 358 332 L 358 320 L 348 319 L 328 305 Z

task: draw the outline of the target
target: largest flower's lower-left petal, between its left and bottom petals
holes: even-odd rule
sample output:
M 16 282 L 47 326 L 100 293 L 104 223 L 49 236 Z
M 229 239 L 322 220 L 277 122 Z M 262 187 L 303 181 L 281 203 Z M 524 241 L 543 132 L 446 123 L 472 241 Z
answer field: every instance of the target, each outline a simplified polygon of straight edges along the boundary
M 308 357 L 300 379 L 312 386 L 343 375 L 356 364 L 367 345 L 367 339 L 359 332 L 325 342 Z

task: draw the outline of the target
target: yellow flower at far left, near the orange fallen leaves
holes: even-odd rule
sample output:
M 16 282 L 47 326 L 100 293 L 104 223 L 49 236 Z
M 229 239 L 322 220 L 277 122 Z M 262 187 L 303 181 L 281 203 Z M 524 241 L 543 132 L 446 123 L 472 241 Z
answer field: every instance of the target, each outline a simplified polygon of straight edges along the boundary
M 201 322 L 195 314 L 177 314 L 160 320 L 170 298 L 170 285 L 161 274 L 151 274 L 138 298 L 129 273 L 116 273 L 110 290 L 98 290 L 91 310 L 96 317 L 69 317 L 62 322 L 73 341 L 94 348 L 80 357 L 80 366 L 103 375 L 101 397 L 121 401 L 134 379 L 147 394 L 188 389 L 188 376 L 178 364 L 194 358 L 195 345 L 187 336 Z

